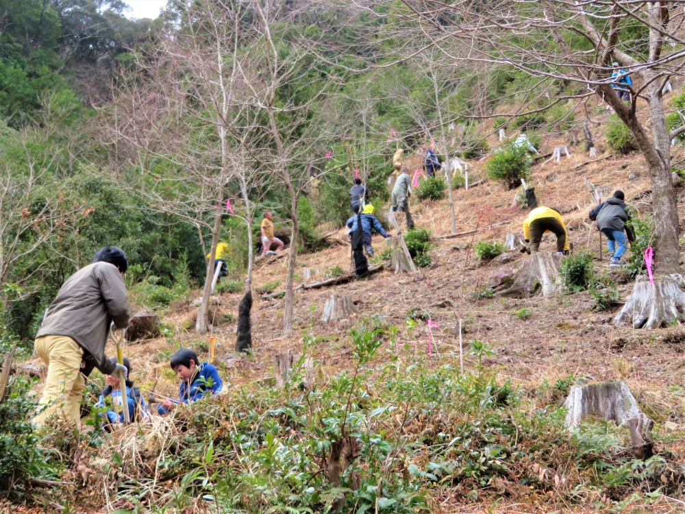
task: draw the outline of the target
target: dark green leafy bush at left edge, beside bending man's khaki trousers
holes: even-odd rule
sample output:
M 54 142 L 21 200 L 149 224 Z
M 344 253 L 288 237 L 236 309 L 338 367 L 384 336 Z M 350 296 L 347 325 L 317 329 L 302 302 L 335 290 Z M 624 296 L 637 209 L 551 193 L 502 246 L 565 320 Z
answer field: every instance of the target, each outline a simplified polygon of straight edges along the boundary
M 14 376 L 7 398 L 0 404 L 0 491 L 12 495 L 21 491 L 29 478 L 53 478 L 59 471 L 40 448 L 41 438 L 31 423 L 38 409 L 38 402 L 29 395 L 34 382 L 38 379 Z

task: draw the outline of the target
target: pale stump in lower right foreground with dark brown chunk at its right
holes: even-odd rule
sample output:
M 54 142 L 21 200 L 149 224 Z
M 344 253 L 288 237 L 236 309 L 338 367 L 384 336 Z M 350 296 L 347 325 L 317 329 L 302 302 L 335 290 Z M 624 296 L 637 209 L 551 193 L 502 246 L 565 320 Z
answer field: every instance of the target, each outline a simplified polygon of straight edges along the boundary
M 583 417 L 599 414 L 604 419 L 611 419 L 616 425 L 627 426 L 636 458 L 647 459 L 652 456 L 651 429 L 654 421 L 640 411 L 625 382 L 575 385 L 571 387 L 564 407 L 569 410 L 564 421 L 569 428 L 575 430 Z

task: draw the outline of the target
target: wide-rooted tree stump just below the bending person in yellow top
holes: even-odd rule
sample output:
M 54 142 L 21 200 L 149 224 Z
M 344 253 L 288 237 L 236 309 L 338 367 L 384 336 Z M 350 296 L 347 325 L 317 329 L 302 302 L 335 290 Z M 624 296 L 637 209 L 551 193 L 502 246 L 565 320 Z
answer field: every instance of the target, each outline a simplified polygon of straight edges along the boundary
M 542 291 L 543 297 L 552 296 L 561 287 L 557 282 L 559 265 L 564 256 L 556 252 L 536 252 L 514 273 L 508 289 L 495 293 L 508 298 L 530 298 Z

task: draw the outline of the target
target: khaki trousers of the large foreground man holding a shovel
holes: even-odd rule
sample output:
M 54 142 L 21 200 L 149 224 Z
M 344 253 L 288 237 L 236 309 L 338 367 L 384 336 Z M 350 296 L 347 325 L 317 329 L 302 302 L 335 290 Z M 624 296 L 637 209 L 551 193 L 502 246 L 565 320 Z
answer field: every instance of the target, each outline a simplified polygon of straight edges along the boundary
M 73 424 L 81 418 L 81 402 L 86 380 L 80 373 L 84 351 L 67 336 L 36 338 L 36 354 L 47 364 L 47 378 L 40 405 L 46 406 L 34 417 L 34 423 L 45 425 L 47 417 L 57 415 Z

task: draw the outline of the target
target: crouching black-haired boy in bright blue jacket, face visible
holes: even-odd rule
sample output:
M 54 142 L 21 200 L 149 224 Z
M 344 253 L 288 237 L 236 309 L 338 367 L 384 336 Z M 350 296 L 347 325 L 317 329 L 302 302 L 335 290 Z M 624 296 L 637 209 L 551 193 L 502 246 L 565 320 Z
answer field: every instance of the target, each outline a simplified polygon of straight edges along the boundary
M 181 380 L 178 387 L 178 400 L 166 400 L 157 406 L 157 412 L 164 415 L 176 404 L 197 402 L 207 395 L 219 393 L 223 382 L 219 371 L 210 363 L 198 364 L 197 354 L 190 348 L 182 348 L 171 356 L 171 369 Z

